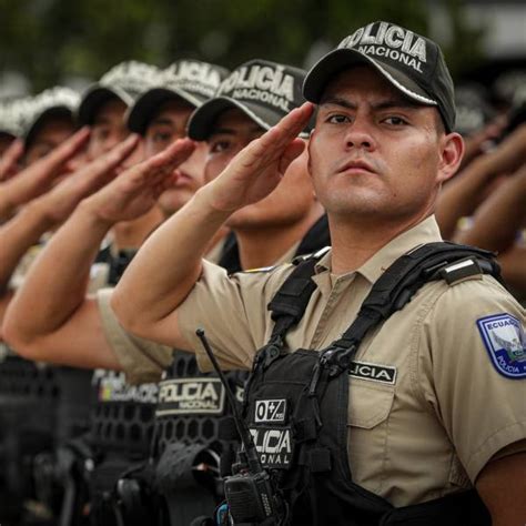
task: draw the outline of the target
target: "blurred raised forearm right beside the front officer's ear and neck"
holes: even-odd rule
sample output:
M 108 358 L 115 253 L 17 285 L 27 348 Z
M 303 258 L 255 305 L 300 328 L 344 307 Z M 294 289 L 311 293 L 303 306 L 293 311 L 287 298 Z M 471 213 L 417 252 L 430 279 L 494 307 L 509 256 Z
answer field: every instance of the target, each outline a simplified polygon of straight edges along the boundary
M 444 186 L 436 204 L 436 220 L 444 239 L 453 239 L 458 220 L 473 214 L 496 170 L 490 154 L 483 155 Z

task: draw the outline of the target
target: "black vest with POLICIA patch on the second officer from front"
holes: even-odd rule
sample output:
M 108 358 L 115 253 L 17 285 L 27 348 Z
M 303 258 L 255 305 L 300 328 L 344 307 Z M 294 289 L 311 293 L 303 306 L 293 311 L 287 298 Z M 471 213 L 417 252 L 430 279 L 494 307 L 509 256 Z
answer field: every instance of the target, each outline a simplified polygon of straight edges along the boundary
M 241 404 L 247 373 L 226 374 Z M 152 441 L 153 477 L 160 524 L 190 524 L 211 515 L 223 498 L 221 475 L 230 468 L 236 442 L 225 390 L 215 373 L 201 373 L 195 356 L 174 350 L 159 383 Z M 224 461 L 224 458 L 230 461 Z

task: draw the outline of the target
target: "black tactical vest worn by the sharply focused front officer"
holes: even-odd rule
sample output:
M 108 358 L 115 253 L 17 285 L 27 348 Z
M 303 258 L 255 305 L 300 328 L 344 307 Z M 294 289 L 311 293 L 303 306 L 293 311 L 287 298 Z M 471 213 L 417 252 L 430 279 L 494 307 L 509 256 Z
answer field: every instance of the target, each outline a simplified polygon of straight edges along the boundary
M 261 463 L 289 508 L 281 522 L 272 524 L 489 525 L 488 513 L 474 489 L 394 508 L 355 484 L 347 458 L 347 405 L 350 367 L 365 335 L 402 310 L 429 281 L 453 284 L 483 273 L 498 277 L 492 254 L 446 242 L 418 246 L 376 281 L 340 338 L 321 351 L 291 353 L 284 345 L 285 335 L 302 318 L 316 287 L 311 280 L 316 262 L 315 256 L 296 262 L 269 304 L 274 330 L 255 357 L 246 386 L 243 417 Z M 263 523 L 254 522 L 250 509 L 246 514 L 237 509 L 234 524 Z

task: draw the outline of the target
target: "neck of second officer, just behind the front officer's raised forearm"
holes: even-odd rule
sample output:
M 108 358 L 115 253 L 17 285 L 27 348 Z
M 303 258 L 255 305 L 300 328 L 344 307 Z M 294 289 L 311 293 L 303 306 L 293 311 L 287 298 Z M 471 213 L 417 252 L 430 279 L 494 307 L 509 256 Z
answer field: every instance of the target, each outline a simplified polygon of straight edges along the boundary
M 314 203 L 310 212 L 293 224 L 259 225 L 233 229 L 243 270 L 261 269 L 276 264 L 324 214 L 323 208 Z

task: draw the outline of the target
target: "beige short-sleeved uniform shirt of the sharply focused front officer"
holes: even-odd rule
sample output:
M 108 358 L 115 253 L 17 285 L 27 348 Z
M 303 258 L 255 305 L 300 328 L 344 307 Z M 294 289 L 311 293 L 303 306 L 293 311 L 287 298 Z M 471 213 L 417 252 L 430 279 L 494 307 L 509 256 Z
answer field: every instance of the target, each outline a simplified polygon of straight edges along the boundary
M 434 218 L 428 218 L 356 272 L 341 276 L 331 275 L 326 254 L 313 276 L 317 289 L 289 333 L 287 346 L 321 350 L 331 344 L 394 260 L 439 239 Z M 203 265 L 200 281 L 179 308 L 180 330 L 203 370 L 211 367 L 195 336 L 198 326 L 205 330 L 224 367 L 250 367 L 272 332 L 266 305 L 292 267 L 229 277 L 213 264 Z M 453 286 L 439 281 L 422 287 L 403 311 L 367 335 L 356 355 L 362 375 L 350 377 L 354 482 L 404 506 L 471 487 L 503 447 L 525 448 L 526 380 L 497 372 L 477 326 L 478 320 L 502 313 L 524 327 L 524 310 L 493 277 Z M 378 367 L 394 372 L 393 383 L 373 377 Z

